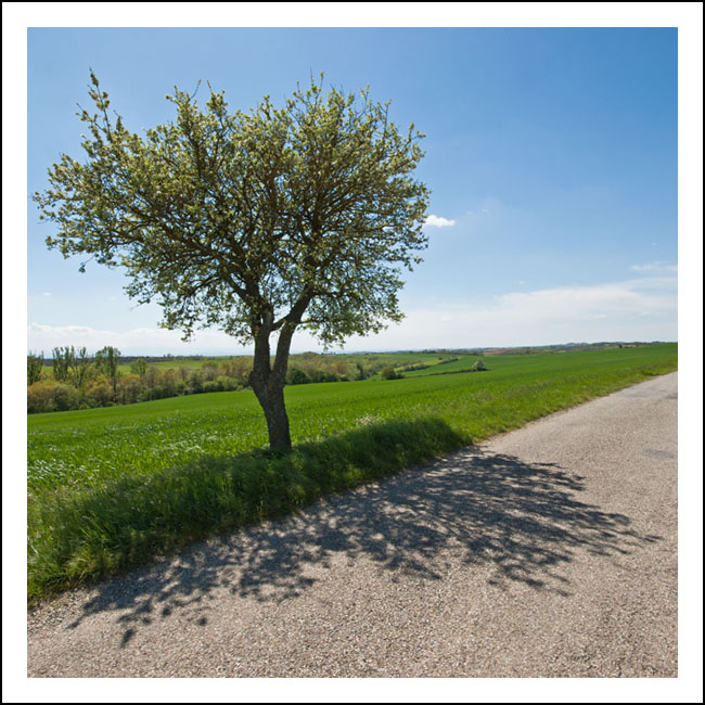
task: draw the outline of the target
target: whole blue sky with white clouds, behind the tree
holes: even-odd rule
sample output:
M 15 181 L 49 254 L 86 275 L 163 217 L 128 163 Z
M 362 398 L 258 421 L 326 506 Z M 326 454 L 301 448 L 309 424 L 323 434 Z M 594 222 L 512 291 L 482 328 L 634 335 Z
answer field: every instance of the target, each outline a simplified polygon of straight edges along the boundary
M 675 341 L 677 49 L 676 28 L 30 28 L 28 192 L 62 152 L 81 156 L 89 66 L 136 131 L 174 118 L 175 84 L 208 80 L 247 108 L 323 70 L 426 133 L 416 176 L 435 216 L 405 322 L 346 349 Z M 29 201 L 29 349 L 246 351 L 215 330 L 188 346 L 159 330 L 119 271 L 79 274 L 48 251 L 53 229 Z M 305 334 L 293 347 L 320 349 Z

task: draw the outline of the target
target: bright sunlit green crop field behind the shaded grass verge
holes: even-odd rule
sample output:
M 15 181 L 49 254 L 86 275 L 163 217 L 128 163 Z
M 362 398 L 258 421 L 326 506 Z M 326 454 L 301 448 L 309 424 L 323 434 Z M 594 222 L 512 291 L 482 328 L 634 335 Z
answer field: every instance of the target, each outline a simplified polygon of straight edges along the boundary
M 389 354 L 392 357 L 394 354 Z M 492 356 L 485 373 L 463 356 L 405 372 L 406 379 L 286 387 L 294 443 L 355 427 L 364 419 L 438 415 L 477 441 L 531 419 L 676 369 L 677 344 L 595 352 Z M 446 359 L 454 356 L 446 356 Z M 434 359 L 432 359 L 434 358 Z M 394 358 L 399 362 L 398 354 Z M 410 358 L 411 359 L 411 358 Z M 418 361 L 415 355 L 412 361 Z M 28 487 L 81 485 L 143 474 L 202 454 L 265 447 L 265 418 L 252 392 L 27 416 Z

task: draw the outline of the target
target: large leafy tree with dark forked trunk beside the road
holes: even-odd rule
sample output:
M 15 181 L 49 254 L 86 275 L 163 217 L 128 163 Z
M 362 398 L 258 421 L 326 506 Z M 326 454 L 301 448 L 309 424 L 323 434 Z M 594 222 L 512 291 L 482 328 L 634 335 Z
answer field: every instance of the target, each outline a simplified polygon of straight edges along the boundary
M 402 268 L 421 261 L 428 190 L 412 172 L 423 153 L 389 103 L 311 79 L 277 108 L 229 113 L 210 89 L 205 112 L 175 88 L 176 120 L 130 132 L 91 72 L 95 113 L 78 115 L 87 161 L 62 155 L 51 188 L 36 193 L 47 238 L 64 257 L 123 266 L 139 303 L 189 339 L 218 325 L 254 342 L 249 384 L 270 446 L 291 447 L 284 383 L 294 332 L 324 346 L 399 321 Z M 81 265 L 84 269 L 85 265 Z M 270 339 L 275 336 L 273 362 Z

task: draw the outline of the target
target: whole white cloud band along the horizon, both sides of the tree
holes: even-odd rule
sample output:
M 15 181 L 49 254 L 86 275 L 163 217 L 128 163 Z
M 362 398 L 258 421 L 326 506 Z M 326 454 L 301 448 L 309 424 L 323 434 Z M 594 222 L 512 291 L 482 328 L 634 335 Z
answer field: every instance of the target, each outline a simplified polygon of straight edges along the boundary
M 440 302 L 406 309 L 398 325 L 368 337 L 351 337 L 346 350 L 422 349 L 594 343 L 599 341 L 678 339 L 677 278 L 640 277 L 592 286 L 564 286 L 511 292 L 488 300 Z M 220 331 L 197 331 L 183 343 L 178 331 L 136 328 L 95 330 L 82 325 L 28 326 L 28 348 L 51 350 L 61 345 L 86 346 L 93 352 L 114 345 L 125 355 L 249 355 Z M 294 336 L 294 351 L 318 350 L 313 336 Z

